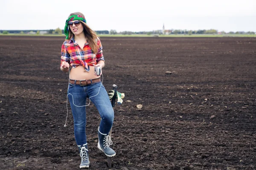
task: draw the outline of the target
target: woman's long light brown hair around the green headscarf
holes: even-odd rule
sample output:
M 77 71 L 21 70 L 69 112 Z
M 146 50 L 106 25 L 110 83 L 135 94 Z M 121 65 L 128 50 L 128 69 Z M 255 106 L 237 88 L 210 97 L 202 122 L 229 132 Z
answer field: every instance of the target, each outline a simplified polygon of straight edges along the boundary
M 71 13 L 71 14 L 69 15 L 69 17 L 70 17 L 71 15 L 81 15 L 82 17 L 84 17 L 84 14 L 82 14 L 81 12 L 74 12 L 74 13 Z M 84 18 L 85 18 L 85 17 L 84 17 Z M 95 33 L 89 26 L 87 26 L 86 23 L 84 23 L 83 21 L 81 21 L 81 23 L 82 23 L 82 25 L 83 25 L 83 27 L 84 27 L 84 35 L 85 35 L 85 37 L 87 38 L 87 42 L 88 42 L 90 48 L 92 48 L 92 51 L 93 51 L 94 54 L 97 54 L 99 47 L 98 47 L 98 45 L 97 45 L 96 40 L 97 40 L 99 37 L 96 35 L 96 33 Z M 70 40 L 70 38 L 72 38 L 74 34 L 73 34 L 73 32 L 70 30 L 70 28 L 68 29 L 68 33 L 69 33 L 69 34 L 68 34 L 68 39 Z

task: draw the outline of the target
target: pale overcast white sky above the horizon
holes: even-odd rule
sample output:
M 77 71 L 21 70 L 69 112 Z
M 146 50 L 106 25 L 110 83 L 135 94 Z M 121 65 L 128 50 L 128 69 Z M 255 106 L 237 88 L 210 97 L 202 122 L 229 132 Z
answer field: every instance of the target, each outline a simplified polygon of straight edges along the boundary
M 255 31 L 256 0 L 0 0 L 0 30 L 64 29 L 81 12 L 94 31 Z M 10 22 L 10 20 L 12 22 Z

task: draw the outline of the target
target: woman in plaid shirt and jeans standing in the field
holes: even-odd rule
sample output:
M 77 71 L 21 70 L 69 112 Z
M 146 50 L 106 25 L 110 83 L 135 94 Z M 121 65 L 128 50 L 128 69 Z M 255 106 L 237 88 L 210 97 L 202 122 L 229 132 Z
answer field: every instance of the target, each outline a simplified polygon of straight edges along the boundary
M 109 147 L 112 141 L 108 135 L 113 125 L 114 112 L 108 93 L 100 81 L 101 73 L 94 74 L 94 67 L 102 69 L 105 65 L 102 45 L 99 37 L 87 26 L 84 14 L 70 14 L 64 33 L 67 37 L 61 47 L 61 71 L 70 71 L 68 98 L 73 113 L 76 143 L 81 156 L 80 168 L 83 168 L 89 167 L 90 164 L 85 133 L 86 98 L 93 102 L 102 118 L 98 127 L 98 148 L 110 157 L 116 155 Z

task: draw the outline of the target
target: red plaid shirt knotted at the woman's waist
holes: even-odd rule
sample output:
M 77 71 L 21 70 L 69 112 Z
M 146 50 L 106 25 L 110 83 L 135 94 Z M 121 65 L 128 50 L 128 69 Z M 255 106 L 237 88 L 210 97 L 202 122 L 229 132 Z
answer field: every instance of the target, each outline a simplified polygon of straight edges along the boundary
M 90 71 L 90 65 L 93 66 L 99 61 L 105 61 L 102 53 L 102 44 L 99 38 L 96 42 L 99 48 L 97 54 L 93 54 L 88 42 L 85 42 L 83 49 L 81 49 L 74 40 L 74 37 L 64 41 L 61 47 L 61 63 L 63 61 L 68 62 L 72 68 L 82 65 L 86 71 Z M 85 68 L 85 65 L 88 65 L 88 69 Z

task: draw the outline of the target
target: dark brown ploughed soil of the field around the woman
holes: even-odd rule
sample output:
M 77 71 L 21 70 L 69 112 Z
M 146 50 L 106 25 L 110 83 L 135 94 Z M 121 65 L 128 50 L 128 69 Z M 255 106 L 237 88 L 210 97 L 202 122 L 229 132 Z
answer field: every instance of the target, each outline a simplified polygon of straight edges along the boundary
M 256 169 L 256 38 L 101 41 L 103 84 L 125 93 L 115 107 L 113 170 Z M 1 170 L 79 170 L 70 105 L 64 127 L 63 42 L 0 36 Z M 108 169 L 97 148 L 99 122 L 89 105 L 90 170 Z

